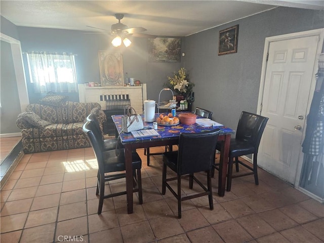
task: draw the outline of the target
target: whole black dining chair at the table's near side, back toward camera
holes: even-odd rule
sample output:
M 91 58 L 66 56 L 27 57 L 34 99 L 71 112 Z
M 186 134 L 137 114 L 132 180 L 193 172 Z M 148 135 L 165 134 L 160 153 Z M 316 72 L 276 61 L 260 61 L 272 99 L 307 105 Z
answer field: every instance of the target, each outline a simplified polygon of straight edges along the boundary
M 209 207 L 214 209 L 211 185 L 211 172 L 215 161 L 215 150 L 219 129 L 202 133 L 181 133 L 179 137 L 179 150 L 166 152 L 163 158 L 162 194 L 166 194 L 168 187 L 178 200 L 178 218 L 181 218 L 181 201 L 208 195 Z M 167 167 L 177 173 L 177 177 L 167 178 Z M 207 171 L 207 188 L 194 173 Z M 193 188 L 193 181 L 204 189 L 204 192 L 181 195 L 181 178 L 189 177 L 189 188 Z M 178 181 L 177 192 L 172 189 L 169 181 Z

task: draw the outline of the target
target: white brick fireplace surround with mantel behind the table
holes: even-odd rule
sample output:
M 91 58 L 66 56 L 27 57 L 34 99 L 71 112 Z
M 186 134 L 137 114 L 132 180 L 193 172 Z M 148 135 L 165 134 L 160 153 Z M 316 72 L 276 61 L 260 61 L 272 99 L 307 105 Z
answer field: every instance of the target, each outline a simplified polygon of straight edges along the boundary
M 103 87 L 85 87 L 78 85 L 80 102 L 98 102 L 101 109 L 106 109 L 106 101 L 100 100 L 102 95 L 129 95 L 131 106 L 138 114 L 143 113 L 144 101 L 147 99 L 146 84 L 141 86 L 103 86 Z

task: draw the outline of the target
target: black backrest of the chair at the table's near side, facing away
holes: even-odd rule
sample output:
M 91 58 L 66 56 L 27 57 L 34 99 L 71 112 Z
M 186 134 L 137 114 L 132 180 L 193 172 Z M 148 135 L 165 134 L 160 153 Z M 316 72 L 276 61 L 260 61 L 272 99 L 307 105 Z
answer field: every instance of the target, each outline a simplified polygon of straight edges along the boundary
M 202 133 L 181 133 L 178 150 L 178 174 L 211 170 L 215 163 L 218 135 L 215 129 Z

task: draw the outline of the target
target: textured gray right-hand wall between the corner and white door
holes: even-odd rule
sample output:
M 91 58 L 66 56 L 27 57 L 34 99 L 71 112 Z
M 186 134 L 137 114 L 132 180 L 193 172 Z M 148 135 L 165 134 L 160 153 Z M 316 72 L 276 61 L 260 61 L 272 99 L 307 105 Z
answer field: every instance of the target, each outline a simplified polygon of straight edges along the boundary
M 237 53 L 218 56 L 219 31 L 236 24 Z M 265 38 L 323 27 L 323 11 L 280 7 L 186 37 L 184 63 L 195 83 L 194 106 L 236 129 L 241 111 L 258 112 Z

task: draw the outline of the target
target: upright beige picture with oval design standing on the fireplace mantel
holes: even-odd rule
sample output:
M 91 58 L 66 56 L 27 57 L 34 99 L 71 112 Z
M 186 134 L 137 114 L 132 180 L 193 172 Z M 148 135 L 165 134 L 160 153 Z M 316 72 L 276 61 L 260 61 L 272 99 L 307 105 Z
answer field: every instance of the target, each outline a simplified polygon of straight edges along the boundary
M 99 51 L 99 67 L 101 86 L 124 86 L 120 52 Z

